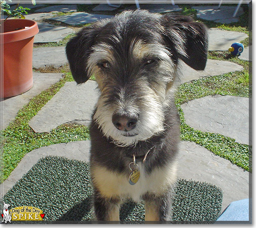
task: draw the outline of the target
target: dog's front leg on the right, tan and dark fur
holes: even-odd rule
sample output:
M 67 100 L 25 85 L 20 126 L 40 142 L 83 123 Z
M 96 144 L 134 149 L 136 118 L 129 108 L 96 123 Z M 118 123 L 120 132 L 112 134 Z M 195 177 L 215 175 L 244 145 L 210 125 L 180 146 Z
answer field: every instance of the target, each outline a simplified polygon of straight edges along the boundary
M 145 221 L 170 221 L 171 220 L 171 193 L 161 196 L 154 194 L 145 195 Z

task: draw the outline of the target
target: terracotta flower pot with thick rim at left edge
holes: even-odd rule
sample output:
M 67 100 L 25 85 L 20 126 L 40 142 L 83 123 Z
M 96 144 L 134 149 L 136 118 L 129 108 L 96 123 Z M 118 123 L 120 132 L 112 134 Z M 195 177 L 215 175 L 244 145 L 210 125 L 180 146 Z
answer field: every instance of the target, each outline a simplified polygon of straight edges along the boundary
M 0 61 L 3 71 L 0 80 L 1 98 L 16 96 L 33 86 L 32 54 L 34 36 L 39 32 L 37 22 L 27 19 L 1 21 Z M 2 59 L 3 58 L 3 59 Z

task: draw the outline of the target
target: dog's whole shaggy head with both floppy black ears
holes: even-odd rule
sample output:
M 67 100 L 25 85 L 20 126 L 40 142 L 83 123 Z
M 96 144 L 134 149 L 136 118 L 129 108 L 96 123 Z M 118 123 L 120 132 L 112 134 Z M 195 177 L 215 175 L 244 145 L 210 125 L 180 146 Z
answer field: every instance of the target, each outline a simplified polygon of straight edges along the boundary
M 105 136 L 129 146 L 163 131 L 178 62 L 203 70 L 207 40 L 204 25 L 189 17 L 126 11 L 83 28 L 66 53 L 77 83 L 96 78 L 93 119 Z

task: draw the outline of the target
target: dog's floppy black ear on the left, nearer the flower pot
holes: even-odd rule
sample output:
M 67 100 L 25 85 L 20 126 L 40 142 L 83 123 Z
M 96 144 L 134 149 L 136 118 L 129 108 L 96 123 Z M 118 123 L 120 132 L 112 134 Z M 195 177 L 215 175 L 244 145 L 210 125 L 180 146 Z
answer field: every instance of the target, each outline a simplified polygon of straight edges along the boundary
M 87 59 L 95 43 L 96 32 L 97 28 L 94 25 L 85 27 L 67 43 L 67 59 L 72 76 L 78 84 L 86 82 L 91 76 L 87 70 Z

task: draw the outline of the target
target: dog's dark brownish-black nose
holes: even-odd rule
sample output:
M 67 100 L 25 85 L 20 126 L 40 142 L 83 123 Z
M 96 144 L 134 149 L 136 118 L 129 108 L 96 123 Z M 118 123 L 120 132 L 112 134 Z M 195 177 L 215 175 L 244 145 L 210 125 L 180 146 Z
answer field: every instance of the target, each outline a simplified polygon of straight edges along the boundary
M 135 128 L 138 119 L 138 116 L 133 113 L 124 115 L 114 114 L 112 122 L 118 130 L 128 132 Z

